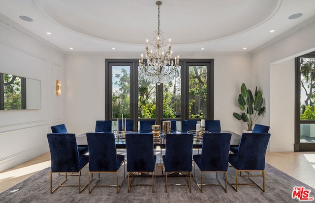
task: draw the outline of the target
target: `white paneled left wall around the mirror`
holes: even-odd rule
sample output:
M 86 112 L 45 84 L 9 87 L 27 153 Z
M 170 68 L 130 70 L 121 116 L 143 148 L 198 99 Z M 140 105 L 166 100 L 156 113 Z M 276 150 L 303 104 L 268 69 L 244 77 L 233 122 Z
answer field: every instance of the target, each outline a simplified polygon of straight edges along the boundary
M 0 24 L 0 72 L 41 81 L 41 109 L 0 111 L 0 171 L 48 152 L 47 132 L 63 122 L 56 76 L 63 76 L 63 55 Z M 58 69 L 54 69 L 58 64 Z M 53 112 L 54 110 L 57 112 Z

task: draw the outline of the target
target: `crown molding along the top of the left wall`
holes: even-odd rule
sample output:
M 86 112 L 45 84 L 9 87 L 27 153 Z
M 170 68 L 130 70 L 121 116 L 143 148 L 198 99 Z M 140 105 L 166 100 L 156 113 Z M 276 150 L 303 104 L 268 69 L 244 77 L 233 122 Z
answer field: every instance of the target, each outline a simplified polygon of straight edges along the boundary
M 49 49 L 52 49 L 53 51 L 57 51 L 61 54 L 65 54 L 65 51 L 57 47 L 56 45 L 48 42 L 47 40 L 43 39 L 42 37 L 36 35 L 35 33 L 31 32 L 27 28 L 23 27 L 22 25 L 12 21 L 8 17 L 4 16 L 0 13 L 0 23 L 3 25 L 6 25 L 7 27 L 10 27 L 11 29 L 14 29 L 15 31 L 18 31 L 19 33 L 23 34 L 24 36 L 29 37 L 30 39 L 48 47 Z

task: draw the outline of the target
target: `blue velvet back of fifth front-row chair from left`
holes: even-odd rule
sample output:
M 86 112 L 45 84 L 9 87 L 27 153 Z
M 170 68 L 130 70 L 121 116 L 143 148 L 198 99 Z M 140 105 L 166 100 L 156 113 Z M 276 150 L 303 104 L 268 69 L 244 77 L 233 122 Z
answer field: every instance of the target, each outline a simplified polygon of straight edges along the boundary
M 200 171 L 227 171 L 231 136 L 231 133 L 203 134 Z

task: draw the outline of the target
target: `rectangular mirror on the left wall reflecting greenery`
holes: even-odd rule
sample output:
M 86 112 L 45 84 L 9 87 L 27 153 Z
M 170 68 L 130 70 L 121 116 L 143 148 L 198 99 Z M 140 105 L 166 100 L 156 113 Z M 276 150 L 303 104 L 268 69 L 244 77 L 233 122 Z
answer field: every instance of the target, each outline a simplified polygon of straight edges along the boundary
M 0 110 L 40 108 L 40 80 L 0 73 Z

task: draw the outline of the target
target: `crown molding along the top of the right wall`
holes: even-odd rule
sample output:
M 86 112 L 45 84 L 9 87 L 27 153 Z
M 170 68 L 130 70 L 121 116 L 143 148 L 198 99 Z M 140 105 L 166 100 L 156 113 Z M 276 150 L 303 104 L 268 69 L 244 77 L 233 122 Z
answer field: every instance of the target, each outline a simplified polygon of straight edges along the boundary
M 315 23 L 315 15 L 312 16 L 311 18 L 303 21 L 302 23 L 286 30 L 285 32 L 283 32 L 282 34 L 278 35 L 277 37 L 269 40 L 268 42 L 260 45 L 259 47 L 253 49 L 252 51 L 250 51 L 251 55 L 254 55 L 256 53 L 258 53 L 259 51 L 262 51 L 263 49 L 276 44 L 277 42 L 284 40 L 285 38 L 290 37 L 291 35 L 301 31 L 302 29 L 305 29 L 306 27 L 313 25 Z

